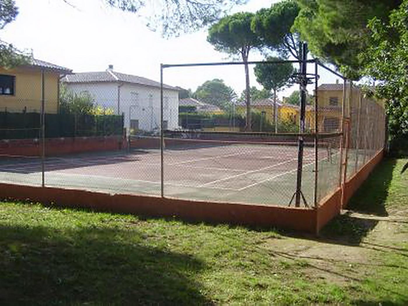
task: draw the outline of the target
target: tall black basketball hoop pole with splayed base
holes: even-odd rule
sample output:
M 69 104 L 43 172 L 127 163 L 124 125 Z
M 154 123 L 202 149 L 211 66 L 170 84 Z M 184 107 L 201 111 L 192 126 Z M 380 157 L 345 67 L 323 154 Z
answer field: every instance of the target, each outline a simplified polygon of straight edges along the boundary
M 305 131 L 305 114 L 306 114 L 306 85 L 307 85 L 307 44 L 302 44 L 301 56 L 302 56 L 302 68 L 300 75 L 300 133 L 303 134 Z M 297 180 L 296 180 L 296 202 L 295 206 L 300 206 L 300 199 L 302 194 L 302 169 L 303 169 L 303 149 L 304 149 L 304 138 L 303 135 L 299 136 L 298 154 L 297 154 Z M 304 197 L 303 197 L 304 200 Z M 305 201 L 305 200 L 304 200 Z

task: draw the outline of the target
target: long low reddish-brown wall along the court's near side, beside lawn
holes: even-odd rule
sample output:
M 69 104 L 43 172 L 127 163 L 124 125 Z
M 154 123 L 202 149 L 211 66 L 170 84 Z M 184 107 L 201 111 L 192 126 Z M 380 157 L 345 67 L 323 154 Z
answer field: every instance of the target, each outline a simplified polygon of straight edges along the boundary
M 0 197 L 31 200 L 98 211 L 175 216 L 189 221 L 278 226 L 315 233 L 316 210 L 283 206 L 246 205 L 177 200 L 143 195 L 110 195 L 101 192 L 51 187 L 0 184 Z

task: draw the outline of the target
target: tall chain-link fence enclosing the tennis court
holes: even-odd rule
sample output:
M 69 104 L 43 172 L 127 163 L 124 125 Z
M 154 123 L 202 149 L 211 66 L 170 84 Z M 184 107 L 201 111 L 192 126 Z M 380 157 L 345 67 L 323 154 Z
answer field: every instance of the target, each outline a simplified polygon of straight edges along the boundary
M 280 64 L 299 61 L 249 66 Z M 0 180 L 317 206 L 384 147 L 384 105 L 319 62 L 304 65 L 288 76 L 292 94 L 251 89 L 249 100 L 244 63 L 163 65 L 172 86 L 111 69 L 58 76 L 48 87 L 27 82 L 37 98 L 26 100 L 19 83 L 0 95 Z M 210 81 L 186 93 L 191 75 Z M 240 92 L 228 75 L 242 75 Z

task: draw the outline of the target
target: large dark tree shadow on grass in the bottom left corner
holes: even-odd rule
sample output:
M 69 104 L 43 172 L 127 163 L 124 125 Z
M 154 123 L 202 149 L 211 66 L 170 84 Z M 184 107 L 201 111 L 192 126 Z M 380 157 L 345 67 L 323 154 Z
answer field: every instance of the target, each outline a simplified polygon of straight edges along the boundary
M 211 304 L 187 255 L 136 231 L 0 227 L 0 304 Z

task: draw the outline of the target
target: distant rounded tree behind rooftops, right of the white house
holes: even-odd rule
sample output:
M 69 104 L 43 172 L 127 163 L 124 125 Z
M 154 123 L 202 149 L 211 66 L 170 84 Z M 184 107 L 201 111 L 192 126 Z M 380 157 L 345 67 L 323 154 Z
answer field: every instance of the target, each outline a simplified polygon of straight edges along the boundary
M 197 87 L 197 90 L 193 94 L 193 98 L 216 105 L 222 109 L 227 109 L 236 96 L 235 91 L 220 79 L 204 82 Z

